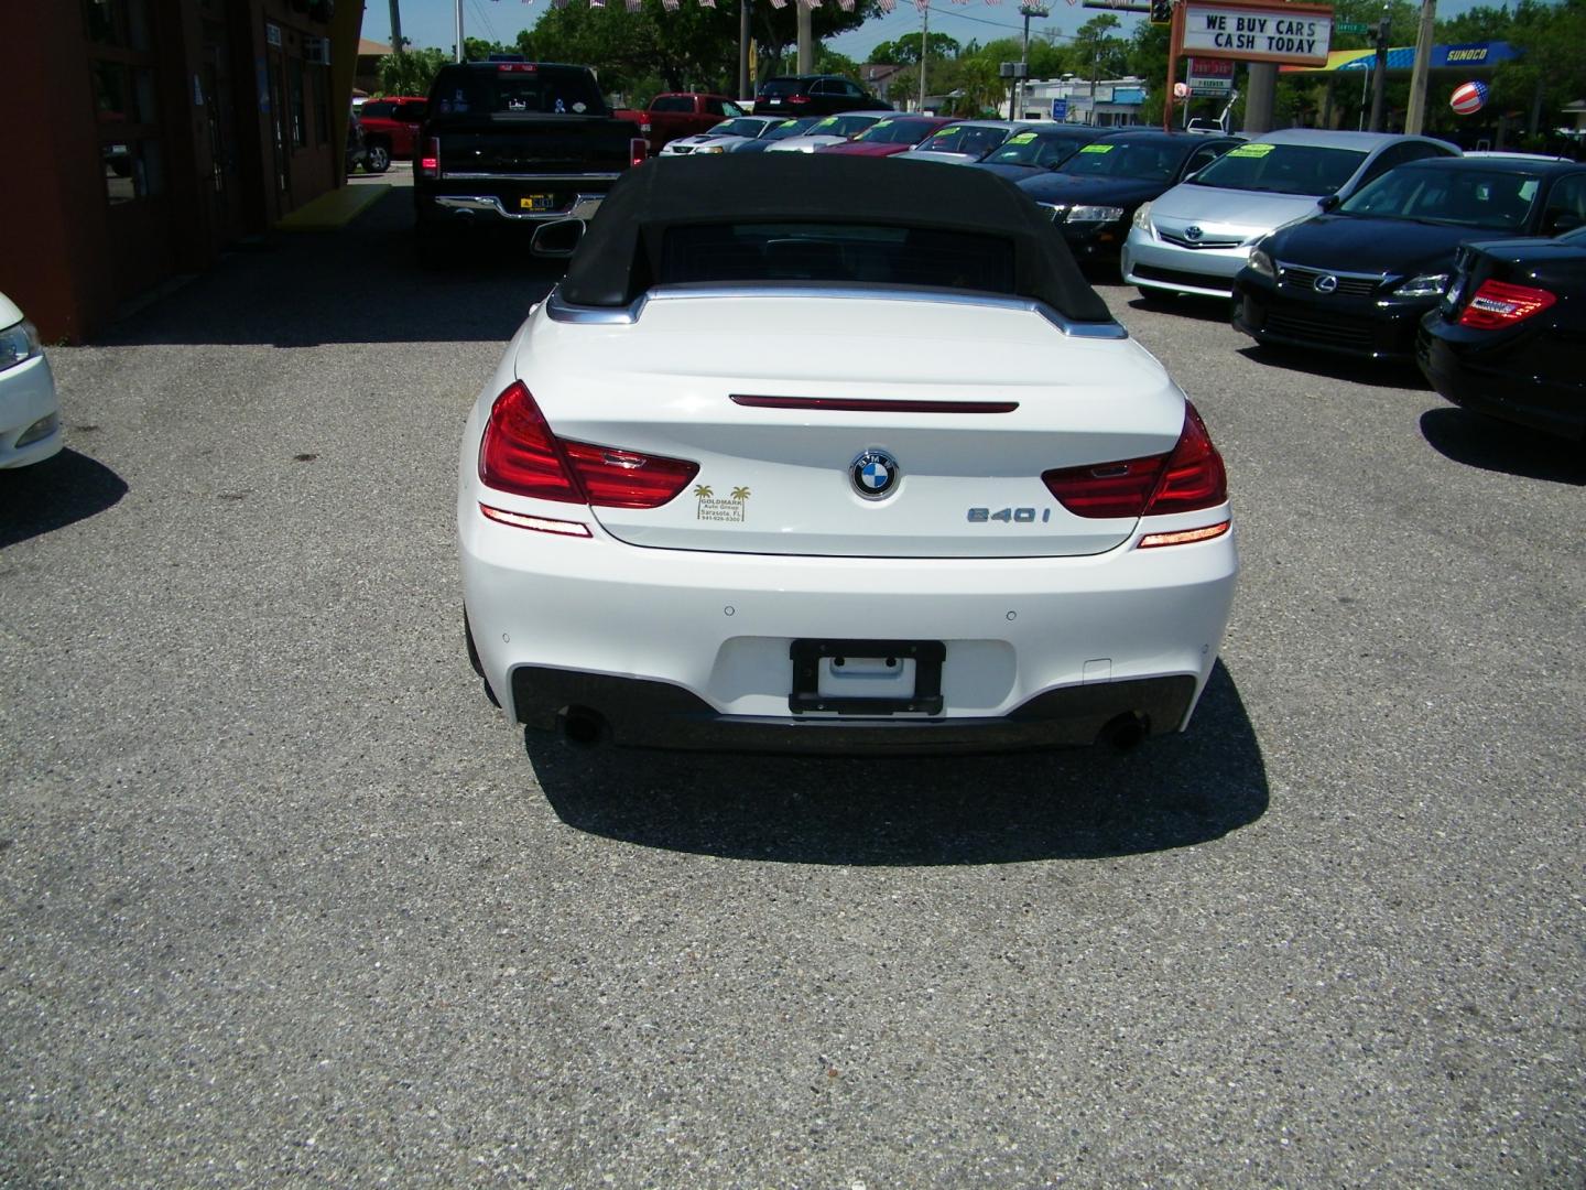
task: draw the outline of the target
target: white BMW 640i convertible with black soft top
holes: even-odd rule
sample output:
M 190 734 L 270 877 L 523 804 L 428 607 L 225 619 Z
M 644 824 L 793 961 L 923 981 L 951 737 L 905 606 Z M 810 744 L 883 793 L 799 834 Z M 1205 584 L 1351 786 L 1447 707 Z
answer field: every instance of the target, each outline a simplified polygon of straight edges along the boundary
M 1186 727 L 1223 460 L 980 170 L 655 160 L 463 435 L 469 657 L 576 743 L 948 752 Z

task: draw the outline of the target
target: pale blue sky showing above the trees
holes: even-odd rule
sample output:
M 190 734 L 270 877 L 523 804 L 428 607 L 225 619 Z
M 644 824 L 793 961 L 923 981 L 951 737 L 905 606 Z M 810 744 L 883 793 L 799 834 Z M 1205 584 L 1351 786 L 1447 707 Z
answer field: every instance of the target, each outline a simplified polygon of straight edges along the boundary
M 579 2 L 573 0 L 573 3 Z M 617 3 L 619 0 L 611 2 Z M 685 5 L 695 2 L 682 0 Z M 755 0 L 755 3 L 768 2 Z M 836 0 L 825 2 L 836 3 Z M 1502 0 L 1484 2 L 1502 3 Z M 416 46 L 439 46 L 450 51 L 455 40 L 455 0 L 400 0 L 400 3 L 403 36 L 409 38 Z M 717 3 L 731 5 L 733 0 L 717 0 Z M 1437 14 L 1440 17 L 1458 16 L 1477 3 L 1483 3 L 1483 0 L 1442 0 L 1437 6 Z M 511 43 L 517 38 L 520 29 L 530 29 L 539 19 L 539 14 L 549 11 L 549 8 L 550 0 L 533 0 L 533 3 L 525 3 L 523 0 L 463 0 L 463 35 L 482 36 L 487 41 Z M 1098 10 L 1082 8 L 1077 2 L 1053 2 L 1050 11 L 1052 16 L 1048 19 L 1029 22 L 1031 38 L 1048 32 L 1072 35 L 1088 19 L 1101 16 Z M 1134 13 L 1118 13 L 1117 16 L 1121 22 L 1118 32 L 1124 36 L 1132 33 L 1134 25 L 1145 19 Z M 956 5 L 947 0 L 933 0 L 931 3 L 931 32 L 947 33 L 961 44 L 1018 36 L 1023 24 L 1023 17 L 1018 14 L 1018 0 L 1002 0 L 999 5 L 991 5 L 985 0 L 971 0 L 967 5 Z M 896 41 L 902 33 L 917 33 L 918 30 L 920 13 L 914 6 L 914 2 L 898 0 L 898 6 L 890 16 L 866 21 L 863 27 L 852 33 L 829 38 L 826 44 L 839 54 L 852 57 L 855 62 L 864 62 L 871 49 L 882 41 Z M 390 33 L 390 0 L 365 0 L 363 36 L 389 43 Z

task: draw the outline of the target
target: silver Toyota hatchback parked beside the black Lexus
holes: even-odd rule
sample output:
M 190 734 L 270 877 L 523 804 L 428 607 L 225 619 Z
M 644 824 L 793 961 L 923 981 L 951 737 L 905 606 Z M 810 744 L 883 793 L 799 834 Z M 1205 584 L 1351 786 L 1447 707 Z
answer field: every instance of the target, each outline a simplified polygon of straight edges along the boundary
M 1123 246 L 1123 279 L 1145 297 L 1232 297 L 1250 249 L 1307 219 L 1327 195 L 1348 198 L 1396 165 L 1459 149 L 1383 132 L 1269 132 L 1145 203 Z

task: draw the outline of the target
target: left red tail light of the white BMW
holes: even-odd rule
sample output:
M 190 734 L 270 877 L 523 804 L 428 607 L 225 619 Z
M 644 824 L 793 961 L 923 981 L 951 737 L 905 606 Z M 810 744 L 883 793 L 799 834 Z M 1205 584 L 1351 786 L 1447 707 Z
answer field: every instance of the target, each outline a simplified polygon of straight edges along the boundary
M 557 438 L 522 381 L 496 397 L 479 444 L 487 487 L 565 505 L 660 508 L 698 473 L 682 459 Z

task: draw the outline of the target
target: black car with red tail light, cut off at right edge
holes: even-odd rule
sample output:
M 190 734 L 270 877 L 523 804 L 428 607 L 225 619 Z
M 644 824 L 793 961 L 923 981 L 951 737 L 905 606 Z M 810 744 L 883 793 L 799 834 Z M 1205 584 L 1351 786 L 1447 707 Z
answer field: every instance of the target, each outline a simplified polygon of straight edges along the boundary
M 1586 227 L 1459 249 L 1448 295 L 1421 322 L 1416 362 L 1454 405 L 1583 443 L 1583 343 Z

